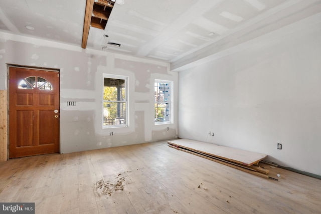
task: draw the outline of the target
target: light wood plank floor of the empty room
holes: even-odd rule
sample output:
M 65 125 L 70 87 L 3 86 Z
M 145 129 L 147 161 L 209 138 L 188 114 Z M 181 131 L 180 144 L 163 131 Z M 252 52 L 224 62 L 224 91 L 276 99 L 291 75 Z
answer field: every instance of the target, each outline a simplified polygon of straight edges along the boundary
M 36 213 L 321 213 L 319 179 L 280 168 L 264 179 L 166 141 L 11 159 L 0 173 L 0 202 L 35 202 Z M 118 174 L 124 190 L 95 193 Z

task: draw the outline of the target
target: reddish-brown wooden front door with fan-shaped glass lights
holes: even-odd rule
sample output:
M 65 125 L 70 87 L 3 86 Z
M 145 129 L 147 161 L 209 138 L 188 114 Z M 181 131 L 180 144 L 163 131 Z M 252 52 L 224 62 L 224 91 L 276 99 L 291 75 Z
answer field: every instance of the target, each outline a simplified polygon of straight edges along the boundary
M 9 158 L 59 152 L 59 73 L 9 67 Z

